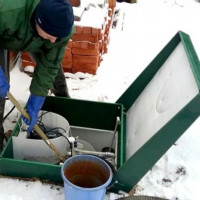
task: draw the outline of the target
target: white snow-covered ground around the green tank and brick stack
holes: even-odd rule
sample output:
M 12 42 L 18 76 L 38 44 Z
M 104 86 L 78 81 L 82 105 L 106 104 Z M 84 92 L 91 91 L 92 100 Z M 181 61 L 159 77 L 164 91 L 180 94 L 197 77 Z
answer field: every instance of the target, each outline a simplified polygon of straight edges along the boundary
M 66 73 L 71 97 L 115 102 L 151 60 L 179 31 L 190 35 L 200 57 L 200 2 L 198 0 L 138 0 L 136 4 L 117 3 L 119 25 L 110 31 L 108 53 L 97 75 Z M 31 78 L 17 65 L 11 71 L 11 93 L 25 105 Z M 12 104 L 6 103 L 6 112 Z M 12 130 L 14 110 L 5 121 Z M 173 200 L 198 200 L 200 183 L 200 121 L 184 133 L 170 150 L 138 183 L 136 194 L 165 197 Z M 40 181 L 0 178 L 2 200 L 64 200 L 61 186 Z M 105 199 L 116 199 L 109 194 Z

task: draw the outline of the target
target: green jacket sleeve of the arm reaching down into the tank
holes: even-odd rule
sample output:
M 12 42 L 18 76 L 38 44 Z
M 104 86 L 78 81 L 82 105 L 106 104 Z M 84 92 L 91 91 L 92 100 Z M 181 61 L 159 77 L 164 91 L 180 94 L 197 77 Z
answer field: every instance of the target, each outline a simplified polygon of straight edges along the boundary
M 30 85 L 31 94 L 47 96 L 58 74 L 58 69 L 61 67 L 66 45 L 73 32 L 59 42 L 50 43 L 47 41 L 41 47 L 41 51 L 35 53 L 36 68 Z

